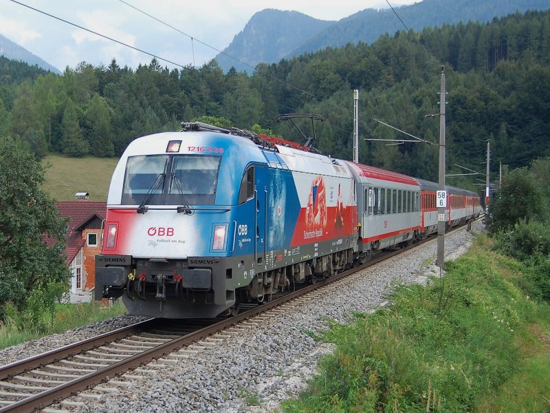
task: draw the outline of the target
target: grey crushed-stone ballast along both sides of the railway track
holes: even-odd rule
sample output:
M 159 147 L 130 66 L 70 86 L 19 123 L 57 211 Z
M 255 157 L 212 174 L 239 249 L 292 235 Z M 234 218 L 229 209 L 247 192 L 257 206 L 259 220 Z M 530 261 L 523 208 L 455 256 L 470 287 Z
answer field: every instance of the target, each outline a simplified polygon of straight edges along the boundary
M 460 229 L 445 235 L 445 260 L 465 253 L 481 231 L 483 224 L 478 220 L 472 224 L 472 233 Z M 146 370 L 135 371 L 132 374 L 142 378 L 133 388 L 120 387 L 115 393 L 102 394 L 99 401 L 80 406 L 78 411 L 274 412 L 280 401 L 297 396 L 305 388 L 307 380 L 316 374 L 318 359 L 332 351 L 331 345 L 315 341 L 308 332 L 326 329 L 327 318 L 346 322 L 353 312 L 372 312 L 386 304 L 384 297 L 396 284 L 426 284 L 428 277 L 439 275 L 439 267 L 433 264 L 436 254 L 437 241 L 433 240 L 367 268 L 361 277 L 353 277 L 338 289 L 303 301 L 288 313 L 230 335 L 178 363 L 157 367 L 152 363 Z M 1 350 L 0 364 L 120 328 L 137 319 L 115 317 L 22 343 Z

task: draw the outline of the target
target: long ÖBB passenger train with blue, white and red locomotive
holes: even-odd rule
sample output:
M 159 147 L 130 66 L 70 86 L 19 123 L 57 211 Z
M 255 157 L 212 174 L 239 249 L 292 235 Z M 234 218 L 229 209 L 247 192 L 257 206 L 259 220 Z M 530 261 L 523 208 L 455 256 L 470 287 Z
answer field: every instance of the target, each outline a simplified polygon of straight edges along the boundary
M 136 138 L 113 171 L 95 298 L 131 315 L 235 315 L 437 231 L 436 191 L 236 128 Z M 447 192 L 446 226 L 482 212 L 477 193 Z

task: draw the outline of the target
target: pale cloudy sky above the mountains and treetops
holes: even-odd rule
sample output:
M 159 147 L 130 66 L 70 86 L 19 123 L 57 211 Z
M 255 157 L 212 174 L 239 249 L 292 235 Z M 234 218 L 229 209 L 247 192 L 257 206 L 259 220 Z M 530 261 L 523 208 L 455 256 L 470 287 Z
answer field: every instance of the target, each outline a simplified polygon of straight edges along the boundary
M 388 1 L 397 7 L 419 0 Z M 201 66 L 227 47 L 254 13 L 266 8 L 296 10 L 316 19 L 338 21 L 366 8 L 388 8 L 388 3 L 386 0 L 0 0 L 0 34 L 61 71 L 67 66 L 76 69 L 81 62 L 108 66 L 113 58 L 118 65 L 135 69 L 140 63 L 150 63 L 151 54 L 161 58 L 162 66 Z

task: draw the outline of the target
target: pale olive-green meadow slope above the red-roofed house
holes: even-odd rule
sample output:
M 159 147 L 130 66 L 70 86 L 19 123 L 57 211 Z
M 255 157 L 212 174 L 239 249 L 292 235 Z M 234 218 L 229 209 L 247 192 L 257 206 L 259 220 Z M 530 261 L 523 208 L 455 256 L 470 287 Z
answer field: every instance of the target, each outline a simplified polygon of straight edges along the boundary
M 43 189 L 57 201 L 75 200 L 74 194 L 77 192 L 88 192 L 92 201 L 106 201 L 117 162 L 118 158 L 48 155 L 43 160 L 43 165 L 50 165 Z

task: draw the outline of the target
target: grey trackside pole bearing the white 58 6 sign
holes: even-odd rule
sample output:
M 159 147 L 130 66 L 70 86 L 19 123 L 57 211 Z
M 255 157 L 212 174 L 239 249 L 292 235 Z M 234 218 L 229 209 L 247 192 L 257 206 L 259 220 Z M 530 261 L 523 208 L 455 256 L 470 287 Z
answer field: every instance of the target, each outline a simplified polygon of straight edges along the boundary
M 445 261 L 445 210 L 448 196 L 445 191 L 445 66 L 441 66 L 439 92 L 439 191 L 437 191 L 437 265 L 443 270 Z

